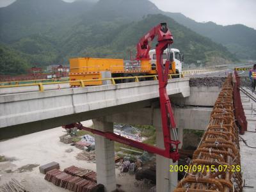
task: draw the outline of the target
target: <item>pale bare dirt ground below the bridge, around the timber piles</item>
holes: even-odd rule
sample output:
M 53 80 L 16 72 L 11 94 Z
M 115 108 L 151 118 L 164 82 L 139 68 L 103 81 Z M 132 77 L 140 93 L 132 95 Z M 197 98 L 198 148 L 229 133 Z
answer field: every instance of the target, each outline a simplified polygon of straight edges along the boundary
M 92 125 L 92 121 L 83 122 L 83 124 L 89 127 Z M 81 150 L 60 142 L 59 136 L 63 134 L 63 129 L 57 127 L 1 141 L 0 156 L 5 156 L 9 160 L 0 162 L 0 185 L 14 178 L 19 180 L 30 192 L 68 191 L 47 182 L 44 180 L 45 175 L 39 172 L 40 165 L 52 161 L 60 163 L 60 170 L 75 165 L 96 171 L 95 163 L 76 159 L 76 154 Z M 73 150 L 69 150 L 70 148 Z M 148 191 L 147 186 L 134 179 L 134 175 L 129 175 L 129 173 L 120 175 L 120 170 L 117 168 L 116 184 L 119 184 L 121 189 L 127 192 Z

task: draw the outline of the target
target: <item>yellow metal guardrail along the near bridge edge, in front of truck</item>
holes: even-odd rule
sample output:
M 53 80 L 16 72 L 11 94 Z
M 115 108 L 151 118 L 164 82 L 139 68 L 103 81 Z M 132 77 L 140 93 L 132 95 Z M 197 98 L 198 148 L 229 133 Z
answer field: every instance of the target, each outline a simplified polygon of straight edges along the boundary
M 184 74 L 169 74 L 169 79 L 172 79 L 172 76 L 179 76 L 184 77 Z M 144 78 L 153 78 L 154 81 L 157 80 L 157 75 L 154 76 L 129 76 L 129 77 L 110 77 L 110 78 L 102 78 L 102 79 L 85 79 L 85 80 L 75 80 L 75 81 L 54 81 L 54 82 L 40 82 L 40 83 L 28 83 L 28 84 L 10 84 L 10 85 L 2 85 L 1 88 L 17 88 L 17 87 L 24 87 L 24 86 L 38 86 L 38 90 L 40 92 L 44 92 L 44 85 L 47 84 L 65 84 L 65 83 L 79 83 L 80 87 L 85 87 L 84 83 L 92 82 L 92 81 L 111 81 L 111 84 L 116 84 L 116 80 L 122 79 L 134 79 L 134 82 L 140 82 L 140 79 Z

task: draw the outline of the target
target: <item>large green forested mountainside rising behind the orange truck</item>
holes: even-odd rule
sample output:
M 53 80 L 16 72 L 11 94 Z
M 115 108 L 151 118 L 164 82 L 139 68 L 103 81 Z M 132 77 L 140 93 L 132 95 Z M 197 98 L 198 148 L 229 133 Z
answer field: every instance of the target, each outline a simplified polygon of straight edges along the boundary
M 227 48 L 159 13 L 148 0 L 17 0 L 0 8 L 0 42 L 26 62 L 20 65 L 21 73 L 33 65 L 68 65 L 68 58 L 78 56 L 127 59 L 130 50 L 135 55 L 142 35 L 159 22 L 168 22 L 175 38 L 173 47 L 184 52 L 187 63 L 237 61 Z M 2 71 L 19 73 L 13 67 Z

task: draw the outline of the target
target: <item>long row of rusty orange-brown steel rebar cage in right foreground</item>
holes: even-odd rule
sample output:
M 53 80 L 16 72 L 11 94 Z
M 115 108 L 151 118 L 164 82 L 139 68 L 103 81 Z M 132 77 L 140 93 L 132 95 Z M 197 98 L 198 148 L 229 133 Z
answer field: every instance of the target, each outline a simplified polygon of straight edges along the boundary
M 223 83 L 186 175 L 174 192 L 242 191 L 238 134 L 230 75 Z

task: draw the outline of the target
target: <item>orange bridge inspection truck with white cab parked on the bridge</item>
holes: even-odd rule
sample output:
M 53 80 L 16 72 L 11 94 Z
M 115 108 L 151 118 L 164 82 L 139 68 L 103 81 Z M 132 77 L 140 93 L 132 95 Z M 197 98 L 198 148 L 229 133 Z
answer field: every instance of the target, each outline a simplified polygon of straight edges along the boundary
M 154 34 L 154 31 L 148 33 L 148 35 L 152 34 Z M 146 39 L 148 42 L 147 40 L 146 42 L 150 43 L 151 38 L 154 38 L 154 35 L 147 37 Z M 135 79 L 132 77 L 140 77 L 138 78 L 138 81 L 153 80 L 154 77 L 152 76 L 157 76 L 157 53 L 156 49 L 150 50 L 150 46 L 148 46 L 147 49 L 144 49 L 145 42 L 143 42 L 143 40 L 145 40 L 145 37 L 141 38 L 140 42 L 137 44 L 137 54 L 135 59 L 71 58 L 69 60 L 70 86 L 80 86 L 77 80 L 86 80 L 84 81 L 85 86 L 100 85 L 104 84 L 104 81 L 101 81 L 100 79 L 107 77 L 118 77 L 115 79 L 115 83 L 134 82 Z M 167 58 L 170 60 L 168 74 L 171 74 L 172 77 L 179 77 L 179 74 L 182 71 L 183 54 L 180 53 L 179 49 L 171 49 L 169 47 L 163 52 L 163 63 L 165 63 Z M 93 81 L 89 81 L 90 79 L 93 79 Z M 97 79 L 99 79 L 99 81 Z

